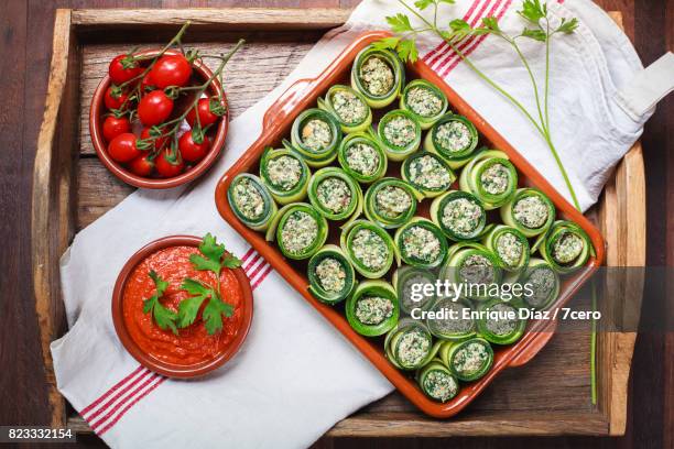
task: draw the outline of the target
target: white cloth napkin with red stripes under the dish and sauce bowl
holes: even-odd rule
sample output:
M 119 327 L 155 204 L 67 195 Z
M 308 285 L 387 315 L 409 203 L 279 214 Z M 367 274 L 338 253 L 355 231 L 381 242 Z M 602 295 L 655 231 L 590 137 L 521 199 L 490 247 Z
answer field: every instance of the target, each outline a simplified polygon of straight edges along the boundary
M 515 0 L 464 0 L 443 6 L 441 23 L 502 15 L 522 28 Z M 627 37 L 587 0 L 550 2 L 553 15 L 575 15 L 580 26 L 555 40 L 552 76 L 553 138 L 584 208 L 596 201 L 611 168 L 638 139 L 646 116 L 630 119 L 613 97 L 642 68 Z M 214 232 L 239 256 L 249 245 L 218 216 L 216 182 L 259 135 L 261 118 L 294 80 L 318 75 L 356 35 L 387 29 L 395 1 L 366 0 L 348 23 L 329 32 L 289 78 L 232 121 L 224 157 L 200 180 L 173 190 L 138 190 L 80 231 L 63 255 L 63 296 L 69 331 L 52 343 L 59 391 L 112 447 L 306 447 L 336 421 L 389 393 L 392 386 L 351 344 L 256 254 L 247 258 L 254 318 L 241 352 L 215 374 L 193 382 L 166 380 L 139 368 L 119 342 L 110 316 L 117 274 L 151 240 Z M 463 64 L 422 42 L 422 56 L 482 117 L 566 193 L 548 150 L 522 116 Z M 515 92 L 530 85 L 512 53 L 493 37 L 475 41 L 470 56 Z M 471 48 L 471 47 L 470 47 Z M 524 51 L 534 69 L 541 45 Z M 447 69 L 450 67 L 450 69 Z M 236 92 L 229 92 L 236 95 Z M 267 275 L 269 273 L 269 275 Z

